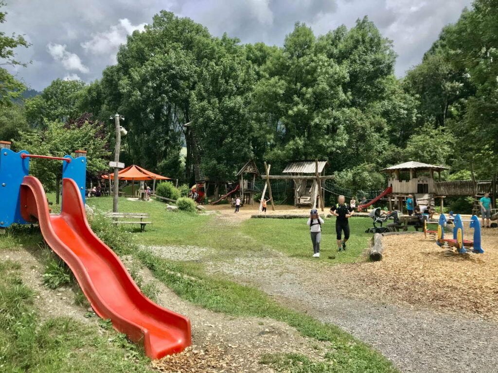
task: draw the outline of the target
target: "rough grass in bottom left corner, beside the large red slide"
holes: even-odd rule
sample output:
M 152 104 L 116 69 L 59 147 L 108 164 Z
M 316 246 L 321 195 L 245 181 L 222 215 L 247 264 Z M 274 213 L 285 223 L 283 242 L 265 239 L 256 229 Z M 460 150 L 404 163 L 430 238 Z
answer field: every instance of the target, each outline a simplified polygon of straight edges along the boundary
M 152 372 L 137 345 L 108 323 L 41 318 L 36 293 L 22 283 L 22 263 L 0 262 L 0 372 Z M 99 331 L 99 329 L 101 329 Z

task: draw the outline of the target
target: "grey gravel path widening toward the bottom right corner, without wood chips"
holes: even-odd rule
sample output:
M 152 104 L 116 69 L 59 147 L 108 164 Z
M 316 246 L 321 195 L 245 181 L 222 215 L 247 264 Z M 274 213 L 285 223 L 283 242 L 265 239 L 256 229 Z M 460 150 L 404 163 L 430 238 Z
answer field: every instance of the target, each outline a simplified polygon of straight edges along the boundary
M 217 218 L 220 227 L 226 223 L 225 214 Z M 164 258 L 191 260 L 177 249 L 154 247 L 153 251 Z M 403 372 L 497 371 L 498 324 L 493 321 L 469 318 L 464 311 L 442 313 L 393 304 L 393 299 L 388 300 L 391 304 L 383 303 L 372 290 L 369 297 L 349 276 L 348 269 L 357 265 L 319 267 L 273 250 L 241 253 L 235 259 L 219 254 L 202 248 L 195 258 L 211 274 L 255 285 L 283 304 L 341 326 L 373 345 Z

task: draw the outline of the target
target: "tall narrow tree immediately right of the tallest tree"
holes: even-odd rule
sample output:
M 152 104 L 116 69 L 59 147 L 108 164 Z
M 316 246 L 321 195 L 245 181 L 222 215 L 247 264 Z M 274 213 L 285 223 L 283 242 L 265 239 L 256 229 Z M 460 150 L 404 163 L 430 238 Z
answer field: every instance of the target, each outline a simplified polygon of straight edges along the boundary
M 202 169 L 215 182 L 233 180 L 252 158 L 253 130 L 249 120 L 255 72 L 237 39 L 217 40 L 216 60 L 205 61 L 192 99 L 193 126 L 205 155 Z

